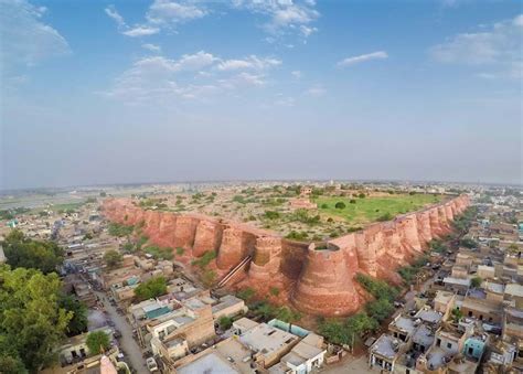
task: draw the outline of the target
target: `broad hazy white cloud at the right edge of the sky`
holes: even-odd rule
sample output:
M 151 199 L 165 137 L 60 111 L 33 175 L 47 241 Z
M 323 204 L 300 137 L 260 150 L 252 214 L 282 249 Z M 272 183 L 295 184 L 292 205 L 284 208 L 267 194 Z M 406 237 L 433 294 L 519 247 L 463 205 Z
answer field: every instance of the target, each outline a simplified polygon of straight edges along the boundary
M 483 77 L 521 78 L 523 14 L 487 26 L 487 31 L 460 33 L 429 50 L 431 57 L 445 64 L 463 64 L 495 72 L 481 72 Z

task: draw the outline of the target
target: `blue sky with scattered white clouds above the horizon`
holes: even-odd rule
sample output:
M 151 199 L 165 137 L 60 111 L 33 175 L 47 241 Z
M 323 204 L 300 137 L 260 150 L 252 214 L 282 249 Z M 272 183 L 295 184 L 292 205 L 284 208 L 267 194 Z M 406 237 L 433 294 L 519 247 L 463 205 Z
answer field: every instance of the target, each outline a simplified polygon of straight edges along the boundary
M 0 189 L 522 183 L 523 9 L 0 0 Z

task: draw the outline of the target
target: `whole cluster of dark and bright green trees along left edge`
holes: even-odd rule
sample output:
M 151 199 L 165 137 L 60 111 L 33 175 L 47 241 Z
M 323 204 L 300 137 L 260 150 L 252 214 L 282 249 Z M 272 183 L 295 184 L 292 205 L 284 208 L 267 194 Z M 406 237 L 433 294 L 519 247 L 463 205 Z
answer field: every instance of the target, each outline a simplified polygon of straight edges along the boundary
M 62 292 L 55 270 L 63 261 L 53 242 L 12 231 L 0 266 L 0 372 L 33 373 L 56 362 L 66 336 L 87 331 L 87 308 Z

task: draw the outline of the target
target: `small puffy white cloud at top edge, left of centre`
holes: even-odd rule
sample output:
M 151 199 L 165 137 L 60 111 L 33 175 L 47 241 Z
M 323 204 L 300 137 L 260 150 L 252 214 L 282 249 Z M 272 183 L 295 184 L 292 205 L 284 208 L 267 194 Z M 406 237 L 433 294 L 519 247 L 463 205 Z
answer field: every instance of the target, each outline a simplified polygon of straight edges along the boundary
M 170 0 L 154 0 L 147 12 L 147 19 L 157 24 L 179 23 L 205 17 L 207 11 L 194 3 Z

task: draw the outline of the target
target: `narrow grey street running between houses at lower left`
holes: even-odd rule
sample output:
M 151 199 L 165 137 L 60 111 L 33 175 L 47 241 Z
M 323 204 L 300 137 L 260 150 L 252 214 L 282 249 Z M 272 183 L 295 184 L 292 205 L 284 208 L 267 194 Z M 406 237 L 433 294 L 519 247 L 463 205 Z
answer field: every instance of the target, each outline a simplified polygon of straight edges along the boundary
M 113 322 L 115 322 L 115 328 L 121 332 L 121 338 L 119 340 L 120 348 L 125 351 L 127 361 L 135 371 L 138 373 L 148 373 L 146 366 L 146 360 L 141 355 L 141 349 L 138 343 L 132 338 L 132 329 L 127 322 L 124 316 L 118 314 L 116 308 L 110 304 L 107 300 L 107 297 L 103 292 L 96 292 L 98 298 L 103 301 L 105 310 Z

